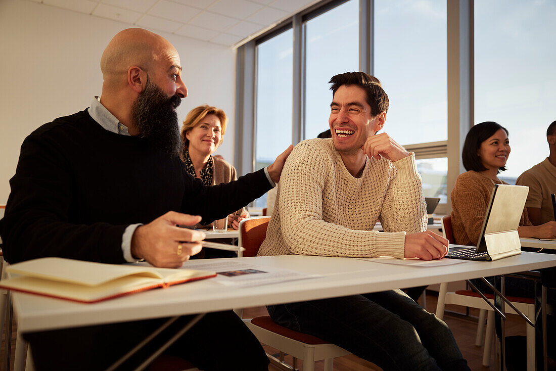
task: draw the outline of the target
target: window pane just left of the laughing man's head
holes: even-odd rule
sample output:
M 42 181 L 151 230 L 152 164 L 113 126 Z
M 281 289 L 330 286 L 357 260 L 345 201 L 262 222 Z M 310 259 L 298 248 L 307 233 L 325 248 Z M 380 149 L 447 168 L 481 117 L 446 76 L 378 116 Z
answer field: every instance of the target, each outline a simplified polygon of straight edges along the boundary
M 359 70 L 358 12 L 350 0 L 305 23 L 305 139 L 329 128 L 330 77 Z

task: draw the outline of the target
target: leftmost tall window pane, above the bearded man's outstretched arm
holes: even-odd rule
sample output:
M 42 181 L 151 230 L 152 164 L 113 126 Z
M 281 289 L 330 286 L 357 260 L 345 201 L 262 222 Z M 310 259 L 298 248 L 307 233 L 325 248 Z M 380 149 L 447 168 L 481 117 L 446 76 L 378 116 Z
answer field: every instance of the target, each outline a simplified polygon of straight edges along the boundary
M 255 170 L 291 144 L 293 37 L 289 29 L 257 46 Z M 255 205 L 265 207 L 266 195 Z

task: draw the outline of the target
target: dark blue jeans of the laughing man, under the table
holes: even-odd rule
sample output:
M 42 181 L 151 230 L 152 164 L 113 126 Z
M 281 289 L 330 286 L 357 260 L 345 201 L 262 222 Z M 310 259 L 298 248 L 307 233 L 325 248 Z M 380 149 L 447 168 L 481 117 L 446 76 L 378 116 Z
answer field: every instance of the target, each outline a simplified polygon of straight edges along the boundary
M 401 290 L 267 306 L 284 327 L 315 335 L 386 370 L 469 370 L 448 325 Z

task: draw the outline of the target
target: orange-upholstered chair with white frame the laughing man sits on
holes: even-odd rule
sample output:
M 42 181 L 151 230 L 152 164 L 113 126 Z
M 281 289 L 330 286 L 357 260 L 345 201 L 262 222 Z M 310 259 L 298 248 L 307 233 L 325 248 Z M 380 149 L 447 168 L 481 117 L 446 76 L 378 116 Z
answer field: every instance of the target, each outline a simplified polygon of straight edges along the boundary
M 266 238 L 269 221 L 270 216 L 251 217 L 240 221 L 239 245 L 245 249 L 242 256 L 257 255 L 262 241 Z M 239 256 L 241 256 L 241 253 Z M 282 363 L 283 353 L 294 358 L 294 368 L 297 364 L 296 359 L 301 359 L 304 371 L 313 371 L 315 362 L 323 359 L 324 370 L 332 371 L 334 358 L 351 354 L 337 345 L 325 342 L 325 340 L 280 326 L 267 315 L 244 319 L 244 322 L 261 343 L 280 350 L 281 359 L 276 359 L 267 354 L 271 363 L 279 364 L 278 367 L 280 368 L 291 368 L 289 365 Z

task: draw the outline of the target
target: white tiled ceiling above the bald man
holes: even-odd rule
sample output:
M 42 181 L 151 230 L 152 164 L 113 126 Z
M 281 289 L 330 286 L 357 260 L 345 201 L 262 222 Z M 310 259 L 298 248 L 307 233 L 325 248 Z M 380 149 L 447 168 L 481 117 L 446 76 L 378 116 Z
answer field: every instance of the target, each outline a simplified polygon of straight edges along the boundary
M 318 0 L 30 0 L 93 17 L 237 46 Z

